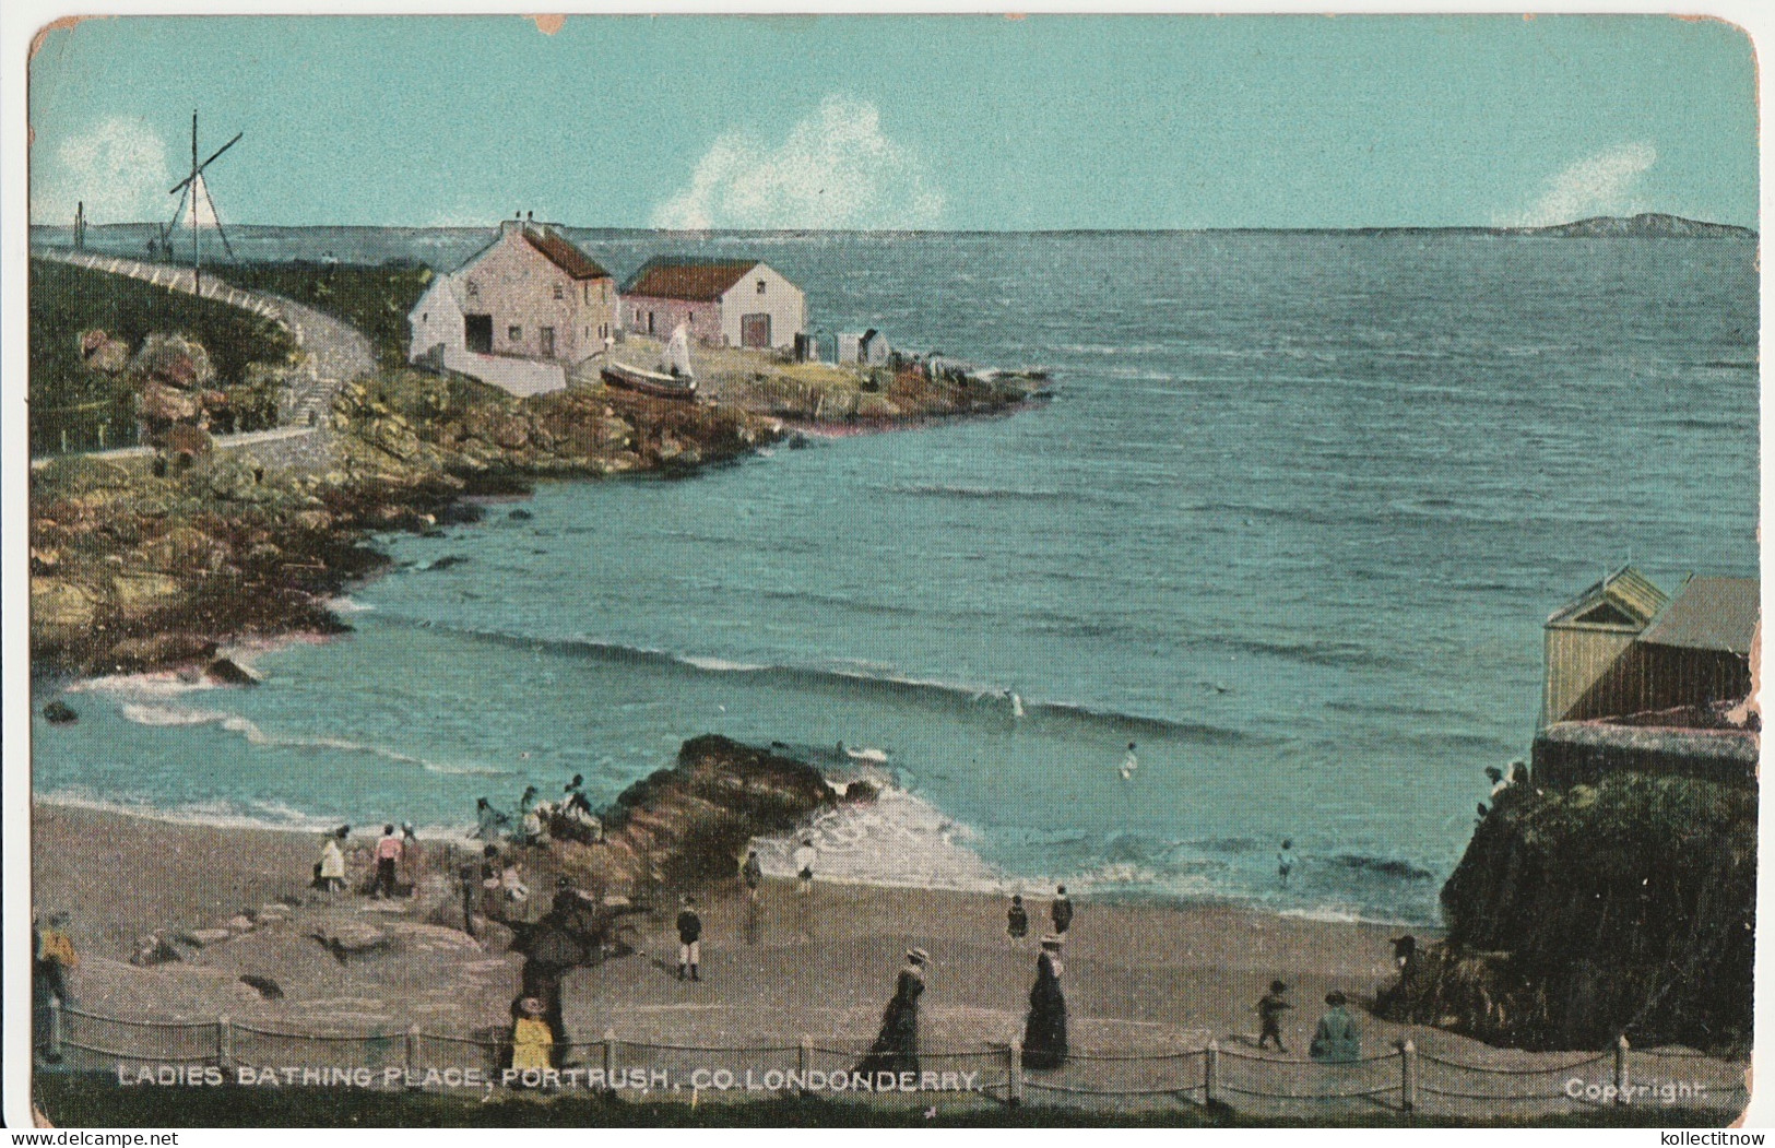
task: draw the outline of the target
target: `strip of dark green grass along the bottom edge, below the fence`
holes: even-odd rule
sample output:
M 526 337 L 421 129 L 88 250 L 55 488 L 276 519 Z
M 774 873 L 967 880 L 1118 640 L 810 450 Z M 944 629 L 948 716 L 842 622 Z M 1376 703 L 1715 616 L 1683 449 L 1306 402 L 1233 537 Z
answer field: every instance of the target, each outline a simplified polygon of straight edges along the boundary
M 1621 1107 L 1459 1123 L 1393 1111 L 1319 1120 L 1262 1120 L 1216 1105 L 1173 1113 L 1081 1113 L 1058 1107 L 1003 1109 L 935 1100 L 868 1105 L 841 1100 L 749 1100 L 699 1104 L 614 1100 L 602 1095 L 499 1098 L 351 1088 L 121 1088 L 108 1077 L 37 1073 L 34 1100 L 57 1125 L 92 1128 L 1274 1128 L 1274 1127 L 1493 1127 L 1493 1128 L 1720 1128 L 1738 1113 L 1683 1107 Z

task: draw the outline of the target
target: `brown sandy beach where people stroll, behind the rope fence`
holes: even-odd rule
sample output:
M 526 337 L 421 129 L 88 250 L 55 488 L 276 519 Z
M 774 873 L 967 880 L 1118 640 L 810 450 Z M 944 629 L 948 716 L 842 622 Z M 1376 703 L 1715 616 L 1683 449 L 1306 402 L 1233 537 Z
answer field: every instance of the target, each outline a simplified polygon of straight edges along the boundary
M 417 1022 L 442 1033 L 506 1022 L 520 956 L 460 933 L 444 855 L 454 848 L 465 857 L 463 843 L 426 843 L 421 896 L 378 903 L 307 889 L 318 848 L 311 834 L 51 804 L 34 807 L 34 910 L 69 914 L 82 955 L 75 994 L 85 1010 L 176 1018 L 229 1011 L 346 1029 Z M 529 878 L 538 889 L 552 884 L 545 873 Z M 227 928 L 241 910 L 257 912 L 279 898 L 296 901 L 288 919 L 261 921 L 178 963 L 128 963 L 144 933 Z M 1030 907 L 1031 939 L 1012 946 L 1005 903 L 985 894 L 822 882 L 804 912 L 786 884 L 769 882 L 749 930 L 744 898 L 710 889 L 703 894 L 701 983 L 676 979 L 671 914 L 641 916 L 641 953 L 570 974 L 566 1024 L 579 1040 L 614 1027 L 635 1040 L 811 1034 L 866 1043 L 902 955 L 916 944 L 932 956 L 927 1040 L 934 1047 L 1008 1042 L 1021 1033 L 1033 937 L 1047 926 L 1045 901 L 1031 898 Z M 341 963 L 312 935 L 341 923 L 392 932 L 399 944 Z M 1298 1008 L 1283 1033 L 1290 1047 L 1301 1047 L 1328 990 L 1361 997 L 1384 981 L 1393 933 L 1383 924 L 1228 905 L 1081 900 L 1065 951 L 1074 1047 L 1131 1052 L 1200 1047 L 1209 1038 L 1253 1042 L 1253 1003 L 1274 978 L 1290 985 Z M 261 999 L 236 979 L 241 974 L 277 981 L 282 999 Z M 1374 1020 L 1369 1031 L 1376 1047 L 1399 1034 Z M 1473 1043 L 1440 1033 L 1427 1040 Z

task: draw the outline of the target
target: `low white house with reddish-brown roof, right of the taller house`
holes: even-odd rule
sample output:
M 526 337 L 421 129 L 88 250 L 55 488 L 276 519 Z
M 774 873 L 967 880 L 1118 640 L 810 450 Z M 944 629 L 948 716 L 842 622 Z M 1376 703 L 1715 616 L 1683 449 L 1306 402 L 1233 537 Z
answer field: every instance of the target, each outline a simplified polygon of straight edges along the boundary
M 659 339 L 683 323 L 701 342 L 783 348 L 808 330 L 808 296 L 756 259 L 664 256 L 623 284 L 621 323 Z

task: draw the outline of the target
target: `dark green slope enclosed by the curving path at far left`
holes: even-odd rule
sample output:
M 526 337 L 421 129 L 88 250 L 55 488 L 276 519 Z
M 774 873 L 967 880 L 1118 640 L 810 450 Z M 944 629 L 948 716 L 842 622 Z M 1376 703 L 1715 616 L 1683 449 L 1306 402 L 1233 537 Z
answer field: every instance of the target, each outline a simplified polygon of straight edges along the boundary
M 131 351 L 149 332 L 183 334 L 208 351 L 220 390 L 256 387 L 250 366 L 286 362 L 296 350 L 280 326 L 236 307 L 43 259 L 30 261 L 28 311 L 32 454 L 62 451 L 64 435 L 67 449 L 135 442 L 128 373 L 89 367 L 80 353 L 83 332 L 105 330 Z

